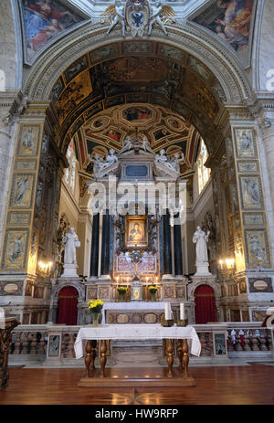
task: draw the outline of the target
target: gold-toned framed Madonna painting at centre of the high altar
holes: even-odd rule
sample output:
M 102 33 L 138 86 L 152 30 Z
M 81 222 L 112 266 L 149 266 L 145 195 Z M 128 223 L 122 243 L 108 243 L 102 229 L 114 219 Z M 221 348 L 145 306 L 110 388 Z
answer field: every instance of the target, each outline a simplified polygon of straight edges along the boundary
M 126 246 L 127 247 L 146 247 L 147 246 L 147 227 L 146 217 L 126 217 Z

